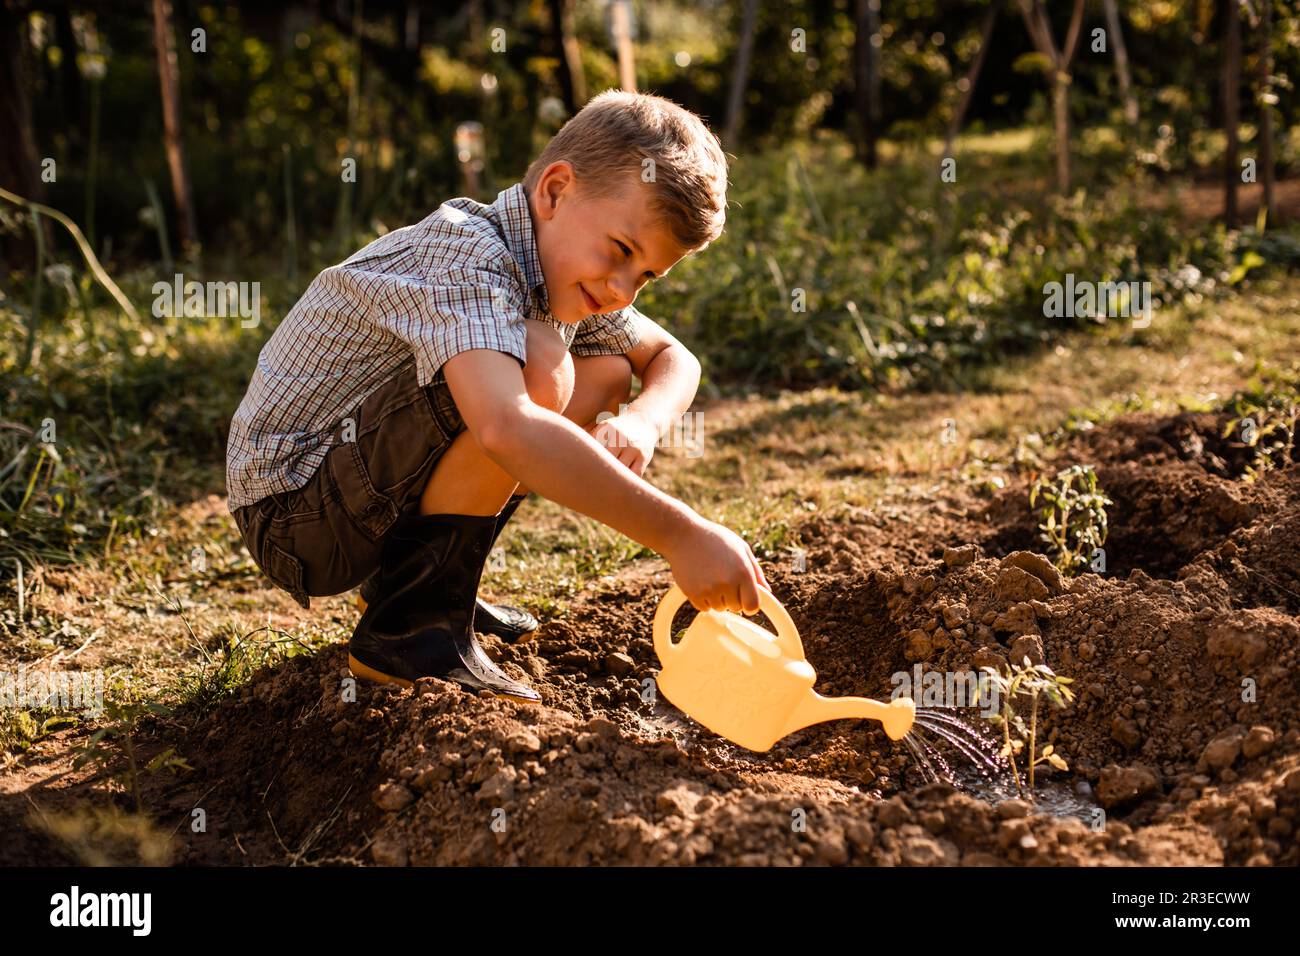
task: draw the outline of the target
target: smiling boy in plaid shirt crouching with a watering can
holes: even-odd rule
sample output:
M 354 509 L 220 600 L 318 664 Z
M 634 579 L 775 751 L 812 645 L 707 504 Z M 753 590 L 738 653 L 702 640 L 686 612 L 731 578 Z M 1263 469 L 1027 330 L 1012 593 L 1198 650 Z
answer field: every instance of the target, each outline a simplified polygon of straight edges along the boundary
M 285 316 L 231 421 L 229 507 L 304 607 L 363 585 L 356 676 L 540 700 L 474 640 L 537 627 L 477 600 L 529 490 L 664 555 L 696 609 L 758 610 L 745 541 L 641 477 L 699 363 L 632 303 L 722 234 L 725 189 L 699 117 L 606 91 L 493 204 L 447 200 L 321 272 Z M 633 375 L 637 399 L 597 423 Z

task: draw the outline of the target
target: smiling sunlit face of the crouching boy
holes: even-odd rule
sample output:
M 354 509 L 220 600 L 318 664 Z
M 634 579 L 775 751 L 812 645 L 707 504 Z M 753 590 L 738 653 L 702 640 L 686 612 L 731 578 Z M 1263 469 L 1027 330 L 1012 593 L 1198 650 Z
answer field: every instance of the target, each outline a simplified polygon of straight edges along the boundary
M 632 177 L 623 195 L 593 199 L 582 194 L 569 163 L 558 160 L 542 173 L 529 208 L 558 321 L 573 324 L 630 306 L 646 282 L 686 254 L 655 221 L 651 189 Z

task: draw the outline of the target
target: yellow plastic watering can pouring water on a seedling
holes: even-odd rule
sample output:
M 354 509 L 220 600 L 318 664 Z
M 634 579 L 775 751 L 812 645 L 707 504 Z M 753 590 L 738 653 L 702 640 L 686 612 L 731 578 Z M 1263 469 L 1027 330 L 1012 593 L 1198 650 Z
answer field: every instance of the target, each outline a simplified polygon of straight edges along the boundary
M 867 697 L 823 697 L 812 689 L 816 671 L 789 613 L 767 588 L 759 606 L 776 635 L 738 614 L 701 611 L 673 644 L 672 618 L 686 601 L 676 584 L 654 615 L 654 649 L 663 665 L 658 684 L 677 709 L 719 736 L 750 750 L 822 721 L 866 717 L 880 721 L 890 740 L 911 730 L 916 705 L 909 697 L 889 704 Z

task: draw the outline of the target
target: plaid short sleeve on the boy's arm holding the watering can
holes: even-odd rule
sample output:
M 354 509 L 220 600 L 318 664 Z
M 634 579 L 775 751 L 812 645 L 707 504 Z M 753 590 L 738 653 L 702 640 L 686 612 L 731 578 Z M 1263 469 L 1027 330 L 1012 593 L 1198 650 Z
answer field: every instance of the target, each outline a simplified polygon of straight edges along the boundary
M 415 351 L 416 377 L 429 385 L 452 356 L 494 349 L 528 362 L 519 284 L 490 268 L 455 267 L 403 277 L 374 303 L 376 323 Z

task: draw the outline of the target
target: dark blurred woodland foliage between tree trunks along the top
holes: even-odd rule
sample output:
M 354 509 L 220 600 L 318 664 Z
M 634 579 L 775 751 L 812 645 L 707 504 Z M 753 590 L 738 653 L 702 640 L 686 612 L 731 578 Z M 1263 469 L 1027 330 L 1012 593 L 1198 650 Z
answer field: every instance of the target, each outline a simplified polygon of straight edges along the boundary
M 855 140 L 857 8 L 863 0 L 754 3 L 753 52 L 742 117 L 732 153 L 751 153 L 828 137 Z M 924 150 L 942 138 L 961 86 L 980 47 L 989 4 L 972 0 L 876 3 L 879 117 L 876 138 Z M 1235 7 L 1236 4 L 1234 4 Z M 485 127 L 481 195 L 517 181 L 528 161 L 581 104 L 566 79 L 563 43 L 552 25 L 564 8 L 577 47 L 581 87 L 619 86 L 611 4 L 571 3 L 169 3 L 179 98 L 179 135 L 187 160 L 196 238 L 213 252 L 281 255 L 286 220 L 300 234 L 303 264 L 335 254 L 325 226 L 358 233 L 406 224 L 464 182 L 454 144 L 458 124 Z M 1049 122 L 1043 56 L 1017 3 L 998 3 L 983 69 L 966 113 L 970 131 Z M 1053 3 L 1057 43 L 1071 3 Z M 1282 131 L 1275 163 L 1296 161 L 1300 26 L 1292 4 L 1274 3 L 1273 81 L 1256 90 L 1261 27 L 1243 25 L 1239 109 L 1251 144 L 1260 118 L 1256 94 L 1268 95 Z M 1092 52 L 1106 29 L 1104 4 L 1088 0 L 1070 73 L 1076 129 L 1123 129 L 1114 39 Z M 1208 170 L 1223 147 L 1219 83 L 1227 3 L 1119 3 L 1121 30 L 1140 105 L 1139 126 L 1112 143 L 1112 178 L 1123 160 L 1161 176 Z M 628 4 L 634 77 L 641 90 L 668 96 L 705 116 L 722 133 L 728 121 L 745 0 L 634 0 Z M 178 237 L 176 198 L 164 148 L 155 22 L 148 4 L 125 12 L 110 3 L 5 0 L 6 59 L 18 73 L 32 146 L 53 159 L 57 179 L 39 183 L 42 199 L 78 220 L 96 250 L 124 263 L 156 259 L 148 185 L 161 196 Z M 1240 7 L 1258 18 L 1262 0 Z M 194 31 L 203 31 L 195 52 Z M 802 52 L 792 35 L 802 31 Z M 13 152 L 20 135 L 8 137 Z M 1140 147 L 1140 148 L 1139 148 Z M 355 157 L 356 189 L 344 189 L 339 164 Z M 6 163 L 5 173 L 21 182 Z M 755 186 L 733 177 L 744 191 Z M 21 183 L 29 185 L 29 183 Z M 771 189 L 771 186 L 770 186 Z M 350 247 L 348 237 L 342 247 Z

